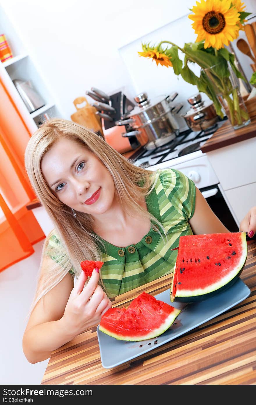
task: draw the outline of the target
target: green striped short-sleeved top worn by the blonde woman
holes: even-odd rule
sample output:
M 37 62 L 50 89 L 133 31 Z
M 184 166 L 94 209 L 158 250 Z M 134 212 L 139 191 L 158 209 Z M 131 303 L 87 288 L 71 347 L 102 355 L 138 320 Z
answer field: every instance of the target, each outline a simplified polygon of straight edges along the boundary
M 163 230 L 159 228 L 164 241 L 154 225 L 140 242 L 129 246 L 118 247 L 100 238 L 106 248 L 101 274 L 110 298 L 171 273 L 178 252 L 171 249 L 178 247 L 180 236 L 193 234 L 188 220 L 195 210 L 195 184 L 183 173 L 169 168 L 158 171 L 155 187 L 145 200 L 148 211 L 163 225 L 167 241 Z M 56 238 L 53 235 L 50 243 Z

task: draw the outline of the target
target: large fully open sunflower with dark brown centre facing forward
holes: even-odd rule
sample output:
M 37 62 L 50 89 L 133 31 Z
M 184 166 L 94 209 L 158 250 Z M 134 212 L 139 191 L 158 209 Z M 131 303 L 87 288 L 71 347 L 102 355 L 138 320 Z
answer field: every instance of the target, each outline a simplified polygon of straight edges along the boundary
M 224 48 L 239 35 L 239 12 L 231 0 L 201 0 L 188 17 L 195 21 L 192 27 L 196 42 L 204 40 L 204 47 Z

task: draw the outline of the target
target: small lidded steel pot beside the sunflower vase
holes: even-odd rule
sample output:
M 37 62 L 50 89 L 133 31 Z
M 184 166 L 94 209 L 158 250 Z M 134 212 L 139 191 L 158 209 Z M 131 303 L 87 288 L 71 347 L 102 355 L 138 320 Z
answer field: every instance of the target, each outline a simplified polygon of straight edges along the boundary
M 197 132 L 216 124 L 218 115 L 211 100 L 202 101 L 199 93 L 188 98 L 188 102 L 192 107 L 182 117 L 190 129 Z

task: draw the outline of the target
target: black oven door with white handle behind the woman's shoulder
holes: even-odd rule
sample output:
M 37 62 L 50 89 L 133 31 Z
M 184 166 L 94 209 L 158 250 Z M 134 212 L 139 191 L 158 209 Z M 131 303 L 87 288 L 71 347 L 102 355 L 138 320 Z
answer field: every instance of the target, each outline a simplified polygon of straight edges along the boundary
M 199 188 L 199 190 L 222 224 L 226 226 L 230 232 L 238 232 L 239 228 L 237 223 L 220 192 L 218 184 L 211 185 L 210 187 Z

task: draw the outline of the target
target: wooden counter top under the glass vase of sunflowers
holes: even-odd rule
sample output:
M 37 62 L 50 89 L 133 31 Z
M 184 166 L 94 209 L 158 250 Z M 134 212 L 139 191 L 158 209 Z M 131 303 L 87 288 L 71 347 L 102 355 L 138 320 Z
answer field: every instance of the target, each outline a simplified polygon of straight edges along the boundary
M 233 145 L 234 143 L 256 136 L 256 97 L 245 101 L 245 105 L 251 118 L 250 124 L 234 130 L 231 123 L 227 120 L 201 147 L 203 153 Z

